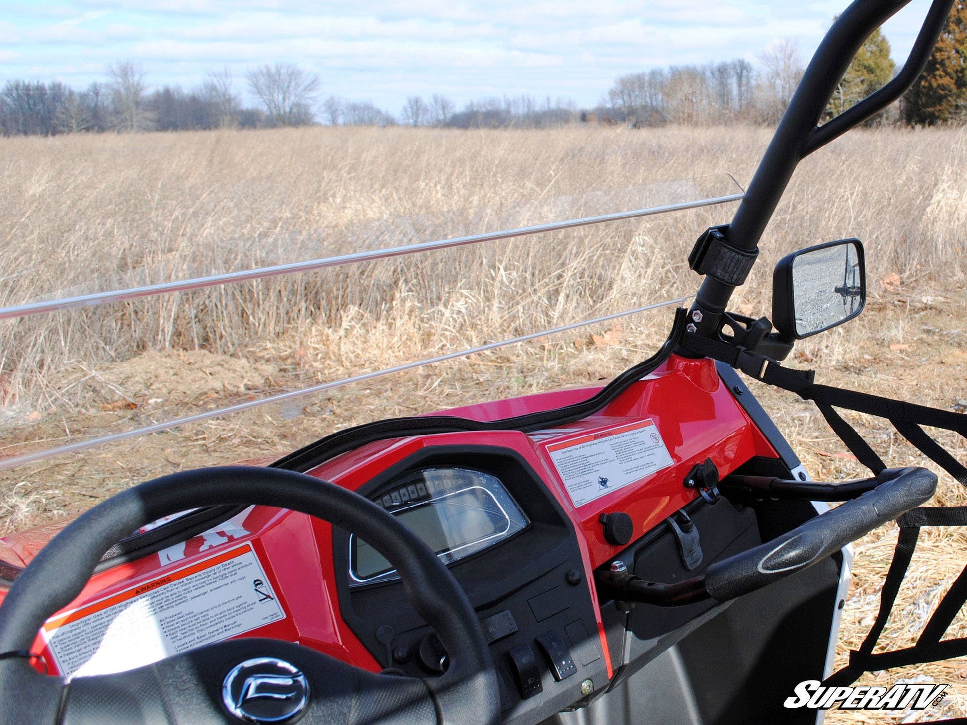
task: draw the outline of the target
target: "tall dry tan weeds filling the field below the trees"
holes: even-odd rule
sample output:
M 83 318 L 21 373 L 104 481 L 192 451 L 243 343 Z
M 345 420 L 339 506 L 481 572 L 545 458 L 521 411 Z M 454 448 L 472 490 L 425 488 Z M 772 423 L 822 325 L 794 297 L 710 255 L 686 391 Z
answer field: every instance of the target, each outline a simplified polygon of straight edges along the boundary
M 724 171 L 746 184 L 769 135 L 318 128 L 3 139 L 0 304 L 652 201 L 608 189 Z M 806 160 L 737 304 L 768 302 L 779 255 L 840 236 L 867 242 L 872 275 L 959 279 L 965 145 L 962 131 L 856 131 Z M 165 347 L 241 355 L 307 324 L 338 330 L 362 316 L 392 327 L 400 305 L 424 310 L 425 345 L 531 332 L 689 293 L 691 242 L 730 215 L 681 213 L 4 322 L 0 388 L 23 412 L 42 392 L 58 402 L 45 381 L 76 361 Z M 441 327 L 434 315 L 451 307 Z

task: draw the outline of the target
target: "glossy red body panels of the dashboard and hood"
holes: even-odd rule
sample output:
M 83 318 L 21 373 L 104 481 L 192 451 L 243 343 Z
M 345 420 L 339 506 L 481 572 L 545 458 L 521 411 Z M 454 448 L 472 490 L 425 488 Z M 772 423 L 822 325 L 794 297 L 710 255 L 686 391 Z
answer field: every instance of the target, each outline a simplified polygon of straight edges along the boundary
M 584 400 L 599 389 L 548 392 L 459 408 L 448 413 L 475 420 L 549 410 Z M 657 425 L 672 458 L 672 465 L 581 507 L 571 502 L 557 474 L 547 446 L 582 433 L 594 432 L 637 420 Z M 627 512 L 634 537 L 659 525 L 697 494 L 684 486 L 690 468 L 712 458 L 722 476 L 752 456 L 777 457 L 762 433 L 721 383 L 715 363 L 672 356 L 654 375 L 624 391 L 595 416 L 561 426 L 562 436 L 552 430 L 524 434 L 519 431 L 459 432 L 397 439 L 369 444 L 339 456 L 311 475 L 356 490 L 367 480 L 420 449 L 437 446 L 474 445 L 513 449 L 544 480 L 579 533 L 585 565 L 585 581 L 593 582 L 593 569 L 607 562 L 622 547 L 609 544 L 599 518 L 609 511 Z M 235 528 L 227 526 L 234 523 Z M 308 516 L 268 507 L 253 507 L 239 514 L 221 533 L 195 536 L 177 550 L 164 550 L 131 564 L 96 574 L 68 609 L 151 581 L 166 572 L 251 540 L 285 619 L 242 636 L 266 636 L 298 641 L 360 667 L 376 671 L 375 660 L 343 623 L 339 615 L 332 552 L 332 527 Z M 12 553 L 28 562 L 62 525 L 8 536 L 0 542 L 0 556 Z M 19 562 L 14 562 L 20 564 Z M 3 593 L 0 592 L 0 597 Z M 600 612 L 598 615 L 601 627 Z M 607 644 L 601 637 L 601 647 Z M 36 652 L 44 649 L 38 640 Z M 609 657 L 605 657 L 609 660 Z M 48 658 L 48 661 L 49 658 Z

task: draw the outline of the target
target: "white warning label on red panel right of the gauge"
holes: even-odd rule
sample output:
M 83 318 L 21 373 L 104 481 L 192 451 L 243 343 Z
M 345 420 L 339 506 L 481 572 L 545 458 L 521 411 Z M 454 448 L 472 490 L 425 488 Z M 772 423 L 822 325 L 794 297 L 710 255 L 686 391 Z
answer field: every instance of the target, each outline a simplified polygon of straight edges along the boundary
M 650 418 L 548 444 L 547 453 L 574 506 L 583 506 L 672 464 Z

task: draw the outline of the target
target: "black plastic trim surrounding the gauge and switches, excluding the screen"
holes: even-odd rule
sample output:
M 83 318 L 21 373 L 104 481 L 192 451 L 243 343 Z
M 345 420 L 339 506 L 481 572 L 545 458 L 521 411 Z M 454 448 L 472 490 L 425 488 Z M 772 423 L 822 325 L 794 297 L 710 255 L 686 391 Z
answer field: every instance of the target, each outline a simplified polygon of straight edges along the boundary
M 491 644 L 491 652 L 501 676 L 509 683 L 507 699 L 502 704 L 504 720 L 509 723 L 542 721 L 554 712 L 570 707 L 581 699 L 580 684 L 591 678 L 596 685 L 606 681 L 601 657 L 601 644 L 594 616 L 594 582 L 581 576 L 576 583 L 569 578 L 574 569 L 584 572 L 575 525 L 540 474 L 527 459 L 513 449 L 500 446 L 447 446 L 438 444 L 420 449 L 397 461 L 378 476 L 366 481 L 357 493 L 374 495 L 396 478 L 424 468 L 457 466 L 474 468 L 500 478 L 507 491 L 530 519 L 530 526 L 495 545 L 448 568 L 461 584 L 464 593 L 480 618 L 510 611 L 519 629 Z M 333 530 L 333 557 L 336 562 L 336 586 L 339 612 L 353 633 L 381 666 L 392 665 L 409 676 L 424 672 L 420 645 L 431 630 L 424 620 L 402 598 L 398 580 L 374 582 L 349 587 L 347 563 L 349 535 Z M 522 699 L 509 677 L 507 653 L 522 643 L 533 646 L 535 637 L 556 630 L 562 637 L 566 627 L 580 621 L 587 640 L 572 642 L 571 652 L 597 651 L 598 656 L 575 660 L 579 677 L 554 681 L 543 671 L 540 695 Z M 393 630 L 392 652 L 377 629 Z M 396 658 L 396 650 L 406 652 Z M 388 655 L 393 662 L 388 662 Z

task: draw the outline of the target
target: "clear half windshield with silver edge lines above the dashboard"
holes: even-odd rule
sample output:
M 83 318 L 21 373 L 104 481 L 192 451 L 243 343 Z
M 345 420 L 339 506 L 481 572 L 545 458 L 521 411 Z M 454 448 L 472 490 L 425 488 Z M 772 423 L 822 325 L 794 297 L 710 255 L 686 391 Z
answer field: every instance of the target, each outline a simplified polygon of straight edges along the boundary
M 690 296 L 691 243 L 742 193 L 720 174 L 198 244 L 128 240 L 140 255 L 92 243 L 70 264 L 34 254 L 29 267 L 14 239 L 0 277 L 0 479 L 15 493 L 0 517 L 16 526 L 20 509 L 268 462 L 358 422 L 552 389 L 581 340 L 614 374 L 667 332 L 653 310 Z

